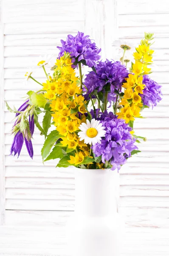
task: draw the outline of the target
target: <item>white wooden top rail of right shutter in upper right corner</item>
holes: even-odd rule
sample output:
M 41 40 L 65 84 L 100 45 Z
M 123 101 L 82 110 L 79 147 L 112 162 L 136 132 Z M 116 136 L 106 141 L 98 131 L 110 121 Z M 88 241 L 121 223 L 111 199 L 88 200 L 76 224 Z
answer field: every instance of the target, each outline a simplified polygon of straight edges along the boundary
M 120 0 L 118 1 L 119 4 L 119 14 L 124 15 L 140 15 L 140 14 L 165 14 L 169 13 L 168 1 L 167 0 L 161 0 L 160 5 L 158 2 L 155 2 L 153 0 L 149 0 L 149 3 L 147 3 L 146 0 L 143 0 L 141 2 L 135 1 L 135 0 Z M 148 5 L 147 5 L 148 4 Z M 150 6 L 149 8 L 147 8 Z

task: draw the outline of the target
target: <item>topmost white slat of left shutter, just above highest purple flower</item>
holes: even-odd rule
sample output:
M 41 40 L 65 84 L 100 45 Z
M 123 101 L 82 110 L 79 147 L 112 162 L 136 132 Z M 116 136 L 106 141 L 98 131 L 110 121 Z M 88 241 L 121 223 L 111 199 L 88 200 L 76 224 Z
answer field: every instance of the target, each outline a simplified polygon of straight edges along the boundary
M 26 26 L 26 29 L 25 29 Z M 22 35 L 22 34 L 71 34 L 77 33 L 77 31 L 84 30 L 83 20 L 62 20 L 57 22 L 20 22 L 17 23 L 5 23 L 4 24 L 4 35 Z M 62 38 L 65 40 L 65 38 Z

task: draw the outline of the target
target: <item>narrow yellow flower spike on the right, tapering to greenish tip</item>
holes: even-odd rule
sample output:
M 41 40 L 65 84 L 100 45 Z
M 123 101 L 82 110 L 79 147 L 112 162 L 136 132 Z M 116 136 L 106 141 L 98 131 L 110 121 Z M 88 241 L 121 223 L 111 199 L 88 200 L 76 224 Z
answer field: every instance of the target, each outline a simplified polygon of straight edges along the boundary
M 149 74 L 151 69 L 147 65 L 152 64 L 153 50 L 149 49 L 149 41 L 144 39 L 134 52 L 133 56 L 135 63 L 132 63 L 132 73 L 126 78 L 124 87 L 124 96 L 121 99 L 120 105 L 123 108 L 117 113 L 118 118 L 126 120 L 126 123 L 135 120 L 135 117 L 140 116 L 141 108 L 143 107 L 140 94 L 143 94 L 145 85 L 143 84 L 143 76 Z

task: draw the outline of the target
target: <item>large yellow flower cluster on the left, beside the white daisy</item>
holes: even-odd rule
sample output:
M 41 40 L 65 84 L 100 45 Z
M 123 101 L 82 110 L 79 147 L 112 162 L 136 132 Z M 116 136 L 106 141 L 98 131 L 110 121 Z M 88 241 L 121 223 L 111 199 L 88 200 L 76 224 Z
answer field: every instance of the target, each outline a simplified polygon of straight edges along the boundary
M 71 65 L 72 62 L 68 54 L 57 59 L 53 79 L 50 76 L 49 80 L 43 83 L 43 89 L 46 90 L 45 98 L 51 100 L 51 111 L 54 112 L 51 115 L 56 130 L 59 131 L 62 138 L 60 143 L 63 147 L 67 146 L 70 151 L 76 149 L 75 157 L 71 156 L 70 162 L 78 165 L 82 163 L 85 156 L 89 155 L 90 148 L 84 141 L 79 140 L 76 133 L 79 130 L 79 125 L 86 122 L 87 110 L 78 78 Z M 82 113 L 81 117 L 78 112 Z

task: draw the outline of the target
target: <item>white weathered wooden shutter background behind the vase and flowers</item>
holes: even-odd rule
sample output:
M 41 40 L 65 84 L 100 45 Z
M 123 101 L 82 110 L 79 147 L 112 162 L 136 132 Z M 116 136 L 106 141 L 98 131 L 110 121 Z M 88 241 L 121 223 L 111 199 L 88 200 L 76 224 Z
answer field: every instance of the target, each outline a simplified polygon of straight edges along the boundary
M 9 156 L 14 115 L 4 107 L 4 98 L 9 105 L 19 107 L 27 90 L 38 88 L 36 83 L 24 83 L 26 68 L 36 65 L 39 55 L 57 55 L 60 39 L 78 30 L 92 35 L 107 58 L 112 58 L 113 38 L 139 43 L 145 31 L 155 33 L 158 69 L 151 77 L 163 85 L 163 100 L 153 110 L 144 111 L 147 119 L 136 121 L 135 133 L 148 140 L 139 144 L 142 152 L 121 169 L 119 211 L 129 233 L 124 255 L 168 255 L 168 0 L 118 0 L 118 9 L 117 0 L 1 0 L 0 253 L 66 255 L 62 251 L 64 235 L 55 236 L 74 209 L 73 173 L 55 169 L 55 162 L 43 166 L 43 139 L 37 130 L 34 160 L 25 147 L 18 159 Z M 37 70 L 35 77 L 41 76 Z

